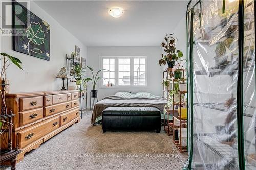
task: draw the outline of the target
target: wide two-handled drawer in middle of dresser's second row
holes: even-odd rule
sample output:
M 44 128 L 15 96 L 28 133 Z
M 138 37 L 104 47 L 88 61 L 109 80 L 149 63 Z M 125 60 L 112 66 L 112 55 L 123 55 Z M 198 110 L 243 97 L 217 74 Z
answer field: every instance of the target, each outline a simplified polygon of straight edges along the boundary
M 44 116 L 50 116 L 58 112 L 62 112 L 71 108 L 71 101 L 60 103 L 52 106 L 44 107 Z

